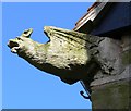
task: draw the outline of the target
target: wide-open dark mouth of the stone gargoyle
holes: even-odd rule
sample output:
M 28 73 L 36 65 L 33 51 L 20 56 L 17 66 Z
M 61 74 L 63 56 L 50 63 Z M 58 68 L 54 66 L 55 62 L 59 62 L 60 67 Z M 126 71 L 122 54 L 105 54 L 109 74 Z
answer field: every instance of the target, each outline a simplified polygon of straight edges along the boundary
M 10 47 L 11 52 L 16 53 L 17 49 L 20 49 L 19 44 L 14 40 L 9 40 L 8 47 Z

